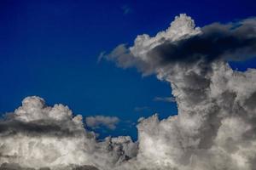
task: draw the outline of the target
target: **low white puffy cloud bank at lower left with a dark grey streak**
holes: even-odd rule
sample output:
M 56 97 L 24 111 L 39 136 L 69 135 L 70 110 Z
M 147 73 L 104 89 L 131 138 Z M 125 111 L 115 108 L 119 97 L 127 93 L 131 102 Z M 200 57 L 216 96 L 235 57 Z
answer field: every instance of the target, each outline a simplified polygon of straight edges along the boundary
M 136 156 L 137 143 L 130 137 L 97 141 L 82 120 L 65 105 L 51 107 L 36 96 L 23 99 L 0 122 L 0 169 L 108 170 Z

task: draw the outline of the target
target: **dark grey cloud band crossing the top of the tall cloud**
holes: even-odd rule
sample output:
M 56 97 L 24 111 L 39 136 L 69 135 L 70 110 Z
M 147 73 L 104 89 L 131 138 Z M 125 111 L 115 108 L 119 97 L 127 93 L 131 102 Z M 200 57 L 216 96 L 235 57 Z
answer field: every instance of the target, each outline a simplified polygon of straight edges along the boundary
M 204 59 L 240 60 L 256 54 L 256 19 L 227 25 L 212 24 L 201 28 L 201 33 L 177 42 L 166 41 L 148 52 L 159 65 L 172 62 L 195 62 Z M 240 24 L 239 26 L 237 26 Z M 250 34 L 247 34 L 247 32 Z

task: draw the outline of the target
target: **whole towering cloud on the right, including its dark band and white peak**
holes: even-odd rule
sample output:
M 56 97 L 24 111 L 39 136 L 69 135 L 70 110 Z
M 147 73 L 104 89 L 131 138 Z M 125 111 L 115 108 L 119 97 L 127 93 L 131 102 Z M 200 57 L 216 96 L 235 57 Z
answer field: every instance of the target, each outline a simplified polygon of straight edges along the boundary
M 177 116 L 140 120 L 138 167 L 253 170 L 256 70 L 233 71 L 227 60 L 255 56 L 255 30 L 254 18 L 199 28 L 181 14 L 166 31 L 105 56 L 170 82 L 177 102 Z

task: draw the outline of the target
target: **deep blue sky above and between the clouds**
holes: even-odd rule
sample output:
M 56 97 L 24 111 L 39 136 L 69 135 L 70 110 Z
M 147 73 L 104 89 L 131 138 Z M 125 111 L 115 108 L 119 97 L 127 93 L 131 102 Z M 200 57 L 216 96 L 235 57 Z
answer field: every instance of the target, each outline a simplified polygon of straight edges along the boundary
M 137 34 L 153 36 L 180 13 L 204 26 L 255 16 L 255 5 L 253 0 L 0 0 L 0 113 L 38 95 L 49 105 L 62 103 L 83 116 L 119 116 L 118 128 L 102 136 L 136 138 L 136 127 L 129 126 L 140 116 L 177 113 L 175 103 L 153 100 L 170 96 L 171 89 L 134 69 L 98 64 L 98 55 L 122 42 L 132 44 Z M 256 60 L 233 66 L 244 71 L 256 67 Z

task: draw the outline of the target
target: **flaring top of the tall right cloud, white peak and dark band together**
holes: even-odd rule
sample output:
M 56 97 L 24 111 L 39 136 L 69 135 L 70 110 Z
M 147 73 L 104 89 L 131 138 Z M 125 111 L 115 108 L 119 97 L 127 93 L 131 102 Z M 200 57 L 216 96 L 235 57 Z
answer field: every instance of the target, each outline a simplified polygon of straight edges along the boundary
M 181 14 L 166 31 L 155 37 L 139 35 L 134 46 L 120 44 L 105 58 L 123 68 L 136 66 L 145 75 L 176 63 L 248 59 L 256 56 L 255 26 L 256 19 L 251 18 L 199 28 L 189 16 Z

